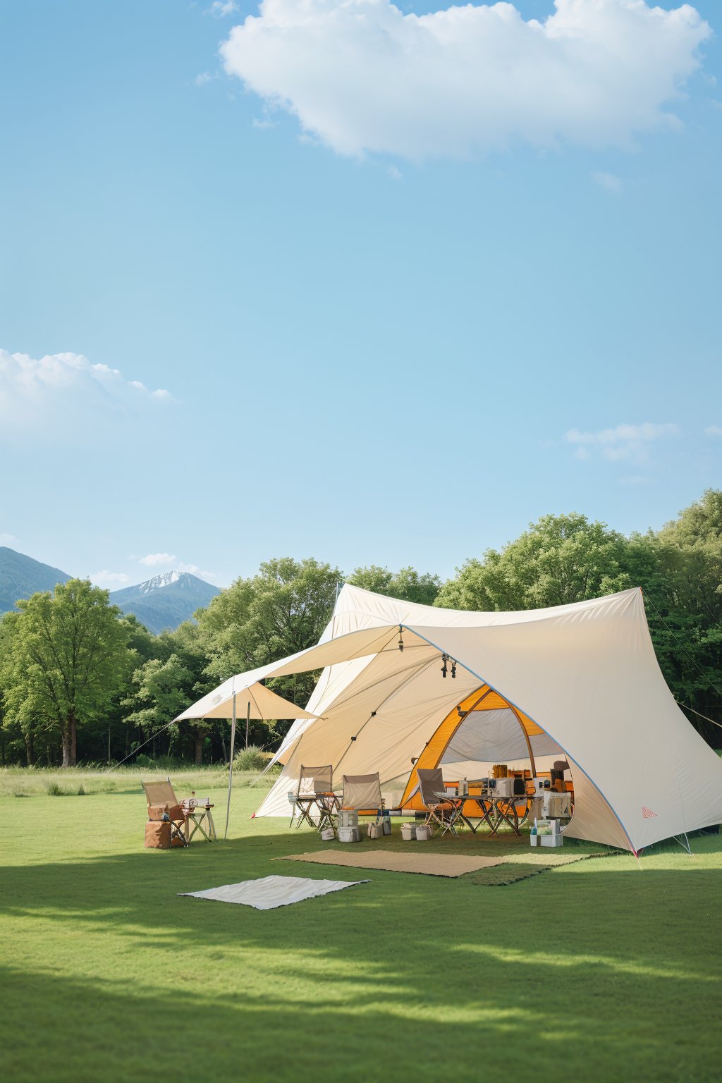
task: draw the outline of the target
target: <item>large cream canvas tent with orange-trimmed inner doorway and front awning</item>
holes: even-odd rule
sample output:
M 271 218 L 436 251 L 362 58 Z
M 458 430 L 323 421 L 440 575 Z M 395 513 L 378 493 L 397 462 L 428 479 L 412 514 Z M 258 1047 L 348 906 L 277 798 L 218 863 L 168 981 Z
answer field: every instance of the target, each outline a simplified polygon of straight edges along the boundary
M 339 788 L 344 773 L 379 771 L 382 792 L 409 801 L 417 759 L 458 779 L 495 761 L 538 769 L 563 757 L 575 793 L 568 836 L 636 853 L 722 822 L 722 761 L 665 682 L 640 589 L 471 613 L 346 584 L 317 647 L 236 687 L 321 667 L 306 707 L 316 717 L 293 722 L 257 815 L 288 815 L 302 764 L 332 764 Z M 220 691 L 179 717 L 206 717 L 213 696 L 213 717 L 226 717 Z

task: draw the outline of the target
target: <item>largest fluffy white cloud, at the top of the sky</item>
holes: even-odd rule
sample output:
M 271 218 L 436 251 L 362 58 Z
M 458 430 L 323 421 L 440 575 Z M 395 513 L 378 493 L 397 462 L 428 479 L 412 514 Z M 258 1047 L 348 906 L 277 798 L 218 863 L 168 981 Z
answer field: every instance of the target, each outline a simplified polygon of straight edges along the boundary
M 665 112 L 710 28 L 694 8 L 556 0 L 404 15 L 389 0 L 263 0 L 226 71 L 342 154 L 464 157 L 514 143 L 623 145 Z

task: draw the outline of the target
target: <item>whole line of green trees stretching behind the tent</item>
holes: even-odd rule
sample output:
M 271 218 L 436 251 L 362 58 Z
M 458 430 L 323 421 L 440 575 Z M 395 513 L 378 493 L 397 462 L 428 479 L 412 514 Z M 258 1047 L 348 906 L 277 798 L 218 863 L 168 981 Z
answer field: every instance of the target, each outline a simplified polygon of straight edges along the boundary
M 337 587 L 465 610 L 561 605 L 640 586 L 662 674 L 713 746 L 722 720 L 722 491 L 709 490 L 660 531 L 625 536 L 582 514 L 543 516 L 500 550 L 442 582 L 412 567 L 347 576 L 312 558 L 270 560 L 194 622 L 153 636 L 87 579 L 19 601 L 0 619 L 0 762 L 75 766 L 133 755 L 197 764 L 227 758 L 228 723 L 168 726 L 235 673 L 313 645 Z M 272 682 L 303 707 L 316 674 Z M 695 714 L 697 712 L 697 714 Z M 288 722 L 252 722 L 274 747 Z

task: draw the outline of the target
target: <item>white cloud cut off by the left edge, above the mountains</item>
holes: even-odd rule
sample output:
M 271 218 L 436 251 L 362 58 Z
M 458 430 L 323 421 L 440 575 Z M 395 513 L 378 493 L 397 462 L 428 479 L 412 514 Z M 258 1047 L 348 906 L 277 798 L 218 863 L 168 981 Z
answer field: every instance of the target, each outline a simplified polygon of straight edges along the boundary
M 100 415 L 103 406 L 135 407 L 170 400 L 162 388 L 149 391 L 117 368 L 91 364 L 81 353 L 53 353 L 36 360 L 0 350 L 0 420 L 9 426 L 38 422 L 61 413 Z

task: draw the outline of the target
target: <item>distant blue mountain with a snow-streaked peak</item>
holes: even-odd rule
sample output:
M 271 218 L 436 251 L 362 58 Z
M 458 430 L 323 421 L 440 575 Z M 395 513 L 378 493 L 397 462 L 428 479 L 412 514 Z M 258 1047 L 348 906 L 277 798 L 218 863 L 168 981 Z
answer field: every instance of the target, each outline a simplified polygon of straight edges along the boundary
M 148 631 L 157 635 L 189 621 L 197 609 L 220 593 L 218 587 L 189 572 L 166 572 L 135 587 L 114 590 L 110 601 L 123 613 L 134 613 Z

